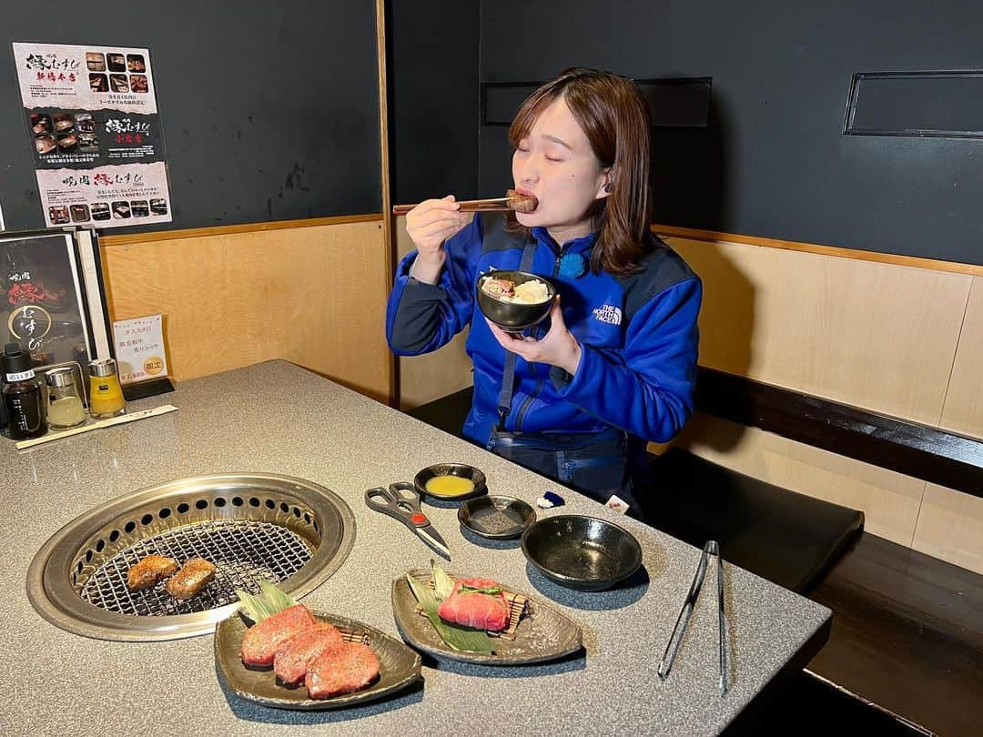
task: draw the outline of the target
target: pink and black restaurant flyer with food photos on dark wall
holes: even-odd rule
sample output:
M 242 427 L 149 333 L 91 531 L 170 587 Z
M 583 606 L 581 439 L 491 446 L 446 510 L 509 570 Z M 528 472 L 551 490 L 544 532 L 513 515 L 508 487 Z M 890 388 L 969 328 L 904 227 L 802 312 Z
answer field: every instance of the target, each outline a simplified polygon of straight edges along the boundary
M 14 43 L 48 227 L 170 222 L 147 49 Z

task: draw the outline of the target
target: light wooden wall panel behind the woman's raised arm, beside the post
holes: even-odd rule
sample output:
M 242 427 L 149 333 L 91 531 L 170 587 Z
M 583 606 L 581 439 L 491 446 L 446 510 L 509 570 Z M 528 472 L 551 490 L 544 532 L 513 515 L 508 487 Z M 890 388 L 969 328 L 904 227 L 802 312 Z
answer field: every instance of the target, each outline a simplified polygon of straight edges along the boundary
M 406 218 L 395 218 L 396 252 L 399 258 L 413 251 L 406 233 Z M 390 285 L 391 287 L 391 285 Z M 471 359 L 464 352 L 465 329 L 450 343 L 425 356 L 400 357 L 399 406 L 412 410 L 437 397 L 471 386 Z

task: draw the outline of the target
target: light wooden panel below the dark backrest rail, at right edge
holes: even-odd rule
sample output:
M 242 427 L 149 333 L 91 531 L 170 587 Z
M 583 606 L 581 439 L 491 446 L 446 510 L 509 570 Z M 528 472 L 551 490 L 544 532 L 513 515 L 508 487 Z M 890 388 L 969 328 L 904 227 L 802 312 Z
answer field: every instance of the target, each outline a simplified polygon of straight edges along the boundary
M 927 484 L 912 547 L 983 574 L 983 499 Z

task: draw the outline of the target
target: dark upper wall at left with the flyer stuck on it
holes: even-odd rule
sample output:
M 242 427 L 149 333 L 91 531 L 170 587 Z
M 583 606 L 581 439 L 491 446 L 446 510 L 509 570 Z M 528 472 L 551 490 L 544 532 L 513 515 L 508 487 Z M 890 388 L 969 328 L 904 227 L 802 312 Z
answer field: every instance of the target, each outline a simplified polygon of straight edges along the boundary
M 378 212 L 372 2 L 5 3 L 0 44 L 150 50 L 174 222 L 191 228 Z M 0 73 L 0 202 L 43 227 L 17 77 Z M 119 232 L 117 229 L 114 232 Z

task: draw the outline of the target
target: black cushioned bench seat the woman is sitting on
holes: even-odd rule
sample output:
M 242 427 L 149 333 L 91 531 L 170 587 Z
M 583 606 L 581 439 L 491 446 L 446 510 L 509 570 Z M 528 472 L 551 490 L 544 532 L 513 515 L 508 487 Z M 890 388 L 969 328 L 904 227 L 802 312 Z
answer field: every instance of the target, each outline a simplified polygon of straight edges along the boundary
M 408 414 L 457 437 L 472 389 L 449 394 Z M 672 449 L 650 457 L 651 476 L 636 492 L 646 521 L 703 547 L 721 543 L 724 559 L 786 589 L 803 593 L 863 529 L 863 513 L 738 474 Z

